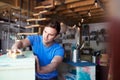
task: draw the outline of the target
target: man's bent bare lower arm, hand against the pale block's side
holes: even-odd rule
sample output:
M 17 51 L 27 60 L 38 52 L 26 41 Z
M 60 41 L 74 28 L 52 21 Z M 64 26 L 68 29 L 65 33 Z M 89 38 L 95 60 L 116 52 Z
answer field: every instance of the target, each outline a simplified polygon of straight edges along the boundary
M 37 67 L 37 72 L 38 73 L 49 73 L 49 72 L 51 72 L 51 71 L 53 71 L 53 70 L 55 70 L 55 69 L 57 69 L 57 66 L 62 62 L 62 57 L 60 57 L 60 56 L 55 56 L 54 58 L 53 58 L 53 60 L 51 61 L 51 63 L 50 64 L 48 64 L 47 66 L 44 66 L 44 67 L 40 67 L 39 66 L 39 61 L 38 61 L 38 59 L 36 60 L 37 62 L 37 65 L 36 65 L 36 67 Z

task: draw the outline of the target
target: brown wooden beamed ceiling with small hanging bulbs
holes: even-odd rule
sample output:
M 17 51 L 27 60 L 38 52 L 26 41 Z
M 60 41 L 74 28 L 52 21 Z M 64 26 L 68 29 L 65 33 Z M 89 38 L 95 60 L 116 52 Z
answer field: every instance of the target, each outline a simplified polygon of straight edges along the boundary
M 68 25 L 98 23 L 106 21 L 107 3 L 108 0 L 0 0 L 0 18 L 5 18 L 3 12 L 7 10 L 8 13 L 20 15 L 12 16 L 11 19 L 23 21 L 42 16 Z

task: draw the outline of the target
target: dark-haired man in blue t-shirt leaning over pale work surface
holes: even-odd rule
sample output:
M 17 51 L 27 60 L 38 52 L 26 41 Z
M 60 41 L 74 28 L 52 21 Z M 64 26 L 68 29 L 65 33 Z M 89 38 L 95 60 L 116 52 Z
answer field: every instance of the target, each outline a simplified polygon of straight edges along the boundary
M 58 22 L 49 23 L 43 30 L 43 35 L 31 35 L 16 42 L 13 49 L 32 46 L 36 59 L 36 80 L 57 80 L 57 66 L 62 62 L 64 49 L 54 41 L 60 32 Z

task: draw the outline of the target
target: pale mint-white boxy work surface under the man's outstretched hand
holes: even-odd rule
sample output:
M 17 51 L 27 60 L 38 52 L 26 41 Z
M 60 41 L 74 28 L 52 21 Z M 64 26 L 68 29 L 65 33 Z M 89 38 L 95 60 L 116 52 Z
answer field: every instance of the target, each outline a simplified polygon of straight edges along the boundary
M 0 56 L 0 80 L 35 80 L 35 59 L 31 51 L 16 59 Z

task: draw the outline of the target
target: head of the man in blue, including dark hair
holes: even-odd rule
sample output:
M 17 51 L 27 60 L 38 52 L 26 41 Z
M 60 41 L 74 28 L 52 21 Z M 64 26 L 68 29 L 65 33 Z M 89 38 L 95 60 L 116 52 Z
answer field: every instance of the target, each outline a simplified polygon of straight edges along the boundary
M 60 32 L 60 23 L 51 22 L 43 30 L 43 43 L 45 45 L 51 45 Z

